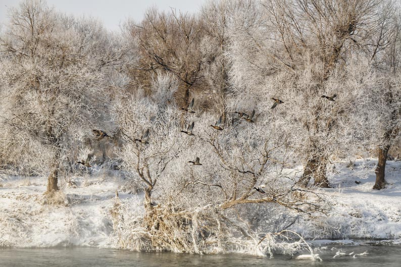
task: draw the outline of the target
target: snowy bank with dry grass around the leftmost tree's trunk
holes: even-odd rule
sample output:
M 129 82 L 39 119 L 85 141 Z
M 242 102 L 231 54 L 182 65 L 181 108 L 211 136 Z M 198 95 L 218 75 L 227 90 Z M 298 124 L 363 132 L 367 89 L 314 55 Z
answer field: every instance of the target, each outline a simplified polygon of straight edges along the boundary
M 55 204 L 45 202 L 45 178 L 14 180 L 0 187 L 0 246 L 107 246 L 119 179 L 74 177 Z

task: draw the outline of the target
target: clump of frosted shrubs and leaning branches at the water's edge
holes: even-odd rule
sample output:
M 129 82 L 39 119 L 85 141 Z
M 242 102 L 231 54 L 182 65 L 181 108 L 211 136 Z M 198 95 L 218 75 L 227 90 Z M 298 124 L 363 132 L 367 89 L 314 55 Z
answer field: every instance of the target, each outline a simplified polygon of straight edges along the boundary
M 158 75 L 152 94 L 138 88 L 122 94 L 115 107 L 124 135 L 118 151 L 122 168 L 144 192 L 141 216 L 130 220 L 128 210 L 119 210 L 122 246 L 195 253 L 230 249 L 233 243 L 267 247 L 257 244 L 258 234 L 276 229 L 264 224 L 271 219 L 264 212 L 322 210 L 317 195 L 294 186 L 296 170 L 287 168 L 291 149 L 285 135 L 270 132 L 268 117 L 246 121 L 228 112 L 217 125 L 221 114 L 196 111 L 184 114 L 181 127 L 181 109 L 169 101 L 178 83 L 171 74 Z M 281 223 L 280 229 L 291 224 Z

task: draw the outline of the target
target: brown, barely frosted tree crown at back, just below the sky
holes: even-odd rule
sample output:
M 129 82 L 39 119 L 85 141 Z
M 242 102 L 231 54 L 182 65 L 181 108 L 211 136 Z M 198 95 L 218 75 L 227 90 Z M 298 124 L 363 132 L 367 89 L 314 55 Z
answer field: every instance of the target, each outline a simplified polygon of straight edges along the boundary
M 146 89 L 155 76 L 172 74 L 179 80 L 176 100 L 180 105 L 188 104 L 204 68 L 199 50 L 202 20 L 175 10 L 164 13 L 149 9 L 138 25 L 130 22 L 127 27 L 138 40 L 140 55 L 138 65 L 132 68 L 133 83 Z

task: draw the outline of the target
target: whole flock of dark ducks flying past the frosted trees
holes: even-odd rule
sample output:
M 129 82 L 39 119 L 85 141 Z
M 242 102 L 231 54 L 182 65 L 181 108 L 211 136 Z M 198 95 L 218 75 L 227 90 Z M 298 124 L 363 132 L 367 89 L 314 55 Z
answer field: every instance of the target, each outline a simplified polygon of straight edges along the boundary
M 337 95 L 334 94 L 333 96 L 322 95 L 321 97 L 326 98 L 326 99 L 328 99 L 328 100 L 330 100 L 330 101 L 335 101 L 334 98 L 335 98 L 336 96 L 337 96 Z M 278 98 L 272 97 L 271 99 L 274 100 L 274 103 L 273 103 L 271 109 L 276 108 L 276 106 L 277 106 L 278 104 L 284 103 L 282 100 L 280 100 L 280 99 L 278 99 Z M 195 99 L 192 98 L 192 100 L 191 100 L 191 102 L 189 103 L 189 105 L 188 105 L 186 108 L 181 108 L 181 110 L 183 110 L 183 111 L 185 111 L 185 112 L 188 112 L 188 113 L 195 113 L 195 111 L 193 110 L 193 104 L 194 104 L 194 103 L 195 103 Z M 250 113 L 250 115 L 248 115 L 248 114 L 246 114 L 246 113 L 244 113 L 244 112 L 234 112 L 234 113 L 238 114 L 238 119 L 244 119 L 244 120 L 247 121 L 247 122 L 255 123 L 255 119 L 254 119 L 255 110 L 253 110 L 252 113 Z M 221 121 L 222 121 L 222 116 L 220 116 L 220 118 L 217 120 L 217 122 L 216 122 L 214 125 L 211 124 L 211 125 L 209 125 L 209 126 L 212 127 L 212 128 L 215 129 L 215 130 L 222 131 L 223 128 L 221 127 Z M 192 131 L 193 131 L 194 125 L 195 125 L 195 122 L 192 122 L 186 129 L 181 130 L 180 132 L 185 133 L 185 134 L 187 134 L 187 135 L 189 135 L 189 136 L 194 136 L 194 134 L 193 134 L 193 132 L 192 132 Z M 102 131 L 102 130 L 92 130 L 92 132 L 93 132 L 94 136 L 96 137 L 96 139 L 97 139 L 98 141 L 99 141 L 99 140 L 102 140 L 102 139 L 105 138 L 105 137 L 111 137 L 111 136 L 108 135 L 105 131 Z M 129 136 L 128 136 L 128 137 L 129 137 Z M 148 143 L 149 143 L 149 142 L 147 141 L 148 137 L 149 137 L 149 129 L 146 130 L 146 132 L 142 135 L 141 138 L 131 139 L 131 138 L 129 137 L 129 139 L 131 139 L 131 140 L 134 141 L 134 142 L 139 142 L 139 143 L 141 143 L 141 144 L 148 144 Z M 196 157 L 196 158 L 195 158 L 195 161 L 188 161 L 188 163 L 191 163 L 192 165 L 201 166 L 202 163 L 201 163 L 200 161 L 201 161 L 201 159 L 200 159 L 199 157 Z M 88 157 L 86 158 L 85 161 L 78 161 L 77 164 L 81 164 L 81 165 L 83 165 L 83 166 L 85 166 L 85 167 L 92 168 L 92 166 L 90 165 L 90 156 L 89 156 L 89 155 L 88 155 Z M 254 187 L 254 189 L 255 189 L 256 191 L 262 193 L 262 194 L 265 194 L 265 193 L 266 193 L 266 192 L 263 190 L 263 186 Z

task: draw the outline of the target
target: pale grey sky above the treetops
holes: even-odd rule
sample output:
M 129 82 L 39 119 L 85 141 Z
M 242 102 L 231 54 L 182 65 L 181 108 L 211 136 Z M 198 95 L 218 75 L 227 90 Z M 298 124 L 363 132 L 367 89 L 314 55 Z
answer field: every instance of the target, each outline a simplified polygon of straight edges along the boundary
M 16 7 L 20 0 L 0 0 L 0 24 L 7 22 L 7 7 Z M 47 0 L 49 7 L 74 14 L 99 18 L 111 30 L 118 30 L 120 22 L 127 18 L 140 21 L 145 10 L 156 6 L 159 10 L 169 11 L 170 7 L 177 11 L 194 13 L 207 0 Z

